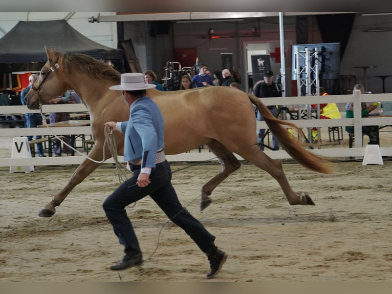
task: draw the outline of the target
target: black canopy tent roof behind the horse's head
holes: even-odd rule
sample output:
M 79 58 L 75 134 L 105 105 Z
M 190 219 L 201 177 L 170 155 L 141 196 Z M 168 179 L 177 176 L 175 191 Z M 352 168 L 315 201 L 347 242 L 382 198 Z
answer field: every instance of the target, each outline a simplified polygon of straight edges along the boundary
M 64 19 L 20 21 L 0 39 L 0 73 L 39 71 L 47 61 L 44 46 L 64 53 L 83 53 L 123 64 L 121 49 L 101 45 L 75 30 Z M 117 67 L 116 67 L 117 68 Z

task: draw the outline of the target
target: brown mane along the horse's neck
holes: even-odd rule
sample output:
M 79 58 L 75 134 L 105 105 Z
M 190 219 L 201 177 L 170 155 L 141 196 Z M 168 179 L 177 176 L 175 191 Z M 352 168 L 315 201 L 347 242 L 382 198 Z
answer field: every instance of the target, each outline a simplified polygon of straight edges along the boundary
M 120 73 L 117 70 L 89 55 L 81 53 L 67 54 L 58 50 L 54 50 L 53 53 L 59 59 L 62 59 L 62 64 L 68 72 L 80 71 L 101 81 L 110 80 L 115 84 L 120 82 Z

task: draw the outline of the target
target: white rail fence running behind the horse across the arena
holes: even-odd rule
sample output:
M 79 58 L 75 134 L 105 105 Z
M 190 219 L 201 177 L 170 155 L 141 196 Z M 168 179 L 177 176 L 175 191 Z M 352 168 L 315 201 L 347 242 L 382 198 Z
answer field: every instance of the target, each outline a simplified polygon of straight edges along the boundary
M 355 90 L 353 95 L 330 95 L 330 96 L 312 96 L 312 97 L 282 97 L 282 98 L 261 98 L 268 105 L 286 105 L 298 106 L 309 103 L 347 103 L 354 102 L 355 118 L 342 119 L 299 119 L 290 120 L 301 128 L 312 127 L 345 127 L 346 125 L 354 125 L 355 130 L 355 146 L 354 148 L 326 148 L 310 150 L 322 156 L 327 157 L 349 157 L 363 156 L 365 148 L 362 148 L 362 125 L 392 125 L 392 117 L 368 117 L 361 118 L 361 102 L 383 102 L 392 101 L 392 94 L 366 94 L 361 95 L 359 90 Z M 85 112 L 87 109 L 84 104 L 63 104 L 63 105 L 44 105 L 43 113 L 50 112 Z M 17 114 L 17 113 L 37 113 L 38 110 L 29 110 L 26 106 L 0 106 L 1 114 Z M 102 126 L 103 128 L 103 126 Z M 267 129 L 264 121 L 257 121 L 257 128 Z M 20 128 L 20 129 L 0 129 L 0 137 L 17 137 L 27 135 L 64 135 L 64 134 L 91 134 L 90 127 L 64 127 L 64 128 Z M 10 146 L 11 150 L 12 146 Z M 392 156 L 392 146 L 382 146 L 380 148 L 382 156 Z M 290 158 L 286 151 L 266 151 L 271 158 L 282 159 Z M 242 159 L 237 156 L 238 159 Z M 67 156 L 67 157 L 34 157 L 34 158 L 0 158 L 0 166 L 20 166 L 20 165 L 63 165 L 63 164 L 80 164 L 85 156 Z M 212 153 L 209 152 L 193 152 L 182 153 L 177 155 L 168 155 L 169 161 L 213 161 L 217 160 Z M 119 156 L 119 161 L 123 161 L 123 157 Z M 108 159 L 105 163 L 113 163 L 113 159 Z

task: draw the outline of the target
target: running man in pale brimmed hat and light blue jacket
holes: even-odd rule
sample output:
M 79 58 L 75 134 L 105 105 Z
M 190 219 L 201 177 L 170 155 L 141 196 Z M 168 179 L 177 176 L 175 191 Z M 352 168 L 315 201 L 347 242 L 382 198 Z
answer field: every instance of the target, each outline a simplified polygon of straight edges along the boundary
M 171 169 L 163 151 L 163 116 L 145 91 L 154 87 L 154 84 L 144 83 L 141 73 L 125 73 L 121 74 L 120 85 L 109 88 L 121 90 L 125 103 L 130 106 L 128 121 L 108 121 L 105 125 L 108 130 L 125 133 L 124 159 L 133 171 L 133 176 L 120 184 L 103 202 L 103 209 L 114 233 L 125 247 L 125 256 L 110 269 L 122 270 L 142 265 L 139 242 L 126 215 L 125 206 L 149 195 L 168 218 L 185 230 L 205 253 L 211 268 L 207 278 L 212 278 L 220 271 L 228 255 L 215 246 L 215 237 L 182 207 L 171 185 Z

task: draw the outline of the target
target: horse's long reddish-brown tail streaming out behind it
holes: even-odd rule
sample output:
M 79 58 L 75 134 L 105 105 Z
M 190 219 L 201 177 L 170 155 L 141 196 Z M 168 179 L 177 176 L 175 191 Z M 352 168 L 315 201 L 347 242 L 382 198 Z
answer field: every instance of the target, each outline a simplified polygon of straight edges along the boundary
M 304 149 L 302 143 L 295 139 L 292 134 L 290 134 L 289 131 L 282 126 L 282 124 L 288 125 L 295 129 L 299 134 L 302 134 L 301 129 L 297 127 L 297 125 L 288 122 L 287 120 L 275 118 L 264 103 L 262 103 L 262 101 L 260 101 L 260 99 L 256 96 L 248 94 L 248 97 L 263 116 L 268 128 L 274 134 L 275 138 L 295 161 L 315 172 L 324 174 L 332 172 L 331 167 L 326 164 L 328 160 Z

